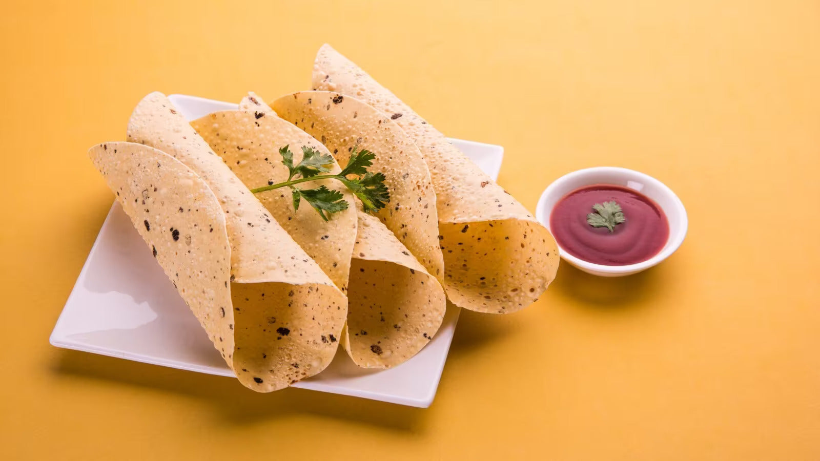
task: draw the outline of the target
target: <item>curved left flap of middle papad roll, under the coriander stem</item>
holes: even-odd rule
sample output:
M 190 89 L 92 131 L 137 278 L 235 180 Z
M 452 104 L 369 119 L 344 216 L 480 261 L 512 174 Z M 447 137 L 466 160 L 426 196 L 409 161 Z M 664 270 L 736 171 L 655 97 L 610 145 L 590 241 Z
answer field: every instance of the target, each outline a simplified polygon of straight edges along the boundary
M 279 153 L 285 145 L 294 153 L 294 165 L 302 161 L 302 146 L 328 153 L 316 139 L 269 111 L 214 112 L 192 121 L 191 126 L 222 157 L 239 180 L 251 189 L 288 180 L 288 168 L 282 163 Z M 339 166 L 334 163 L 331 174 L 339 171 Z M 338 180 L 308 181 L 298 187 L 313 189 L 320 185 L 339 190 L 348 203 L 354 203 L 353 194 Z M 302 203 L 294 212 L 292 194 L 287 187 L 255 195 L 271 216 L 330 276 L 330 280 L 346 291 L 350 256 L 353 241 L 356 240 L 356 209 L 351 207 L 335 212 L 329 221 L 325 221 L 307 203 Z

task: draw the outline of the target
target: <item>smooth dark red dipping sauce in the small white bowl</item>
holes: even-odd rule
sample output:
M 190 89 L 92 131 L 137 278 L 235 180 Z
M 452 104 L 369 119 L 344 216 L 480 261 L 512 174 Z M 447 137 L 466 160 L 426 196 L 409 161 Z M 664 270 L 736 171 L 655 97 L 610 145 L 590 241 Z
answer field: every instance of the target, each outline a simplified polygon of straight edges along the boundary
M 614 231 L 593 227 L 587 215 L 595 203 L 615 201 L 626 221 Z M 589 185 L 555 203 L 549 227 L 561 248 L 576 258 L 605 266 L 644 262 L 658 254 L 669 239 L 669 221 L 652 199 L 621 185 Z

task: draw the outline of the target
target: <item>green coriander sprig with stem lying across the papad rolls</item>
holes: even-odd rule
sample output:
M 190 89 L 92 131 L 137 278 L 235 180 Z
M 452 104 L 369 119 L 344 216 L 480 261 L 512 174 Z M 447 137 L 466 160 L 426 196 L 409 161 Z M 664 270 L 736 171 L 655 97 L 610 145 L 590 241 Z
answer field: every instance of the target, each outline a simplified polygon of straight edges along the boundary
M 319 212 L 319 215 L 327 221 L 328 215 L 348 209 L 348 202 L 344 195 L 338 190 L 328 189 L 322 185 L 316 189 L 298 189 L 295 185 L 310 180 L 339 180 L 362 201 L 362 208 L 365 212 L 374 213 L 390 201 L 390 194 L 385 185 L 385 175 L 383 173 L 373 174 L 367 171 L 367 167 L 373 165 L 375 153 L 369 150 L 357 150 L 355 147 L 350 153 L 348 165 L 339 172 L 338 175 L 322 175 L 330 172 L 330 165 L 335 162 L 330 154 L 321 153 L 310 146 L 302 146 L 302 161 L 294 165 L 294 153 L 289 146 L 279 149 L 282 156 L 282 163 L 288 167 L 288 180 L 278 184 L 266 185 L 257 189 L 251 189 L 253 194 L 266 192 L 267 190 L 289 187 L 293 194 L 294 210 L 299 209 L 299 204 L 304 199 L 307 203 Z M 295 176 L 302 176 L 294 179 Z M 358 176 L 348 178 L 348 176 Z

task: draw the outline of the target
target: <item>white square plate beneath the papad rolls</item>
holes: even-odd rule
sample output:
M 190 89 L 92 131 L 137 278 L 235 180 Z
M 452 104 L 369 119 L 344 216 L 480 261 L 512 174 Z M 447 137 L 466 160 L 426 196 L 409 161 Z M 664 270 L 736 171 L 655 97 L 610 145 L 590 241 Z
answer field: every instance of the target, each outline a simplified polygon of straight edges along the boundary
M 170 99 L 189 120 L 237 107 L 192 96 L 172 95 Z M 451 141 L 493 179 L 498 177 L 503 158 L 501 146 Z M 439 386 L 457 320 L 458 308 L 448 304 L 444 323 L 430 344 L 398 367 L 360 368 L 339 348 L 329 367 L 316 377 L 298 381 L 294 387 L 429 407 Z M 51 344 L 234 376 L 116 202 L 54 326 Z

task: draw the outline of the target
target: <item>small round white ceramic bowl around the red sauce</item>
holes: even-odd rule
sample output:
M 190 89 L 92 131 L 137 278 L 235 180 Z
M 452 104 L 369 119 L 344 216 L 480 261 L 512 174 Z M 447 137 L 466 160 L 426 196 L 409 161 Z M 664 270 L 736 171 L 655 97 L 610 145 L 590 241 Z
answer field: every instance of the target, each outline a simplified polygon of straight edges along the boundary
M 686 228 L 689 226 L 689 220 L 686 217 L 686 208 L 683 208 L 681 199 L 678 199 L 677 195 L 672 192 L 672 189 L 669 189 L 667 185 L 664 185 L 661 181 L 654 179 L 652 176 L 647 176 L 638 171 L 626 168 L 586 168 L 584 170 L 573 171 L 558 178 L 558 180 L 555 180 L 553 184 L 544 190 L 544 194 L 541 194 L 541 198 L 538 201 L 538 208 L 535 209 L 535 217 L 549 229 L 549 215 L 553 212 L 553 207 L 555 203 L 558 203 L 559 199 L 565 194 L 572 192 L 572 190 L 595 184 L 626 186 L 646 195 L 649 199 L 653 199 L 655 203 L 658 203 L 660 208 L 663 208 L 663 212 L 666 213 L 667 219 L 669 220 L 669 239 L 663 246 L 663 249 L 652 258 L 626 266 L 605 266 L 604 264 L 587 262 L 567 253 L 559 244 L 558 250 L 564 261 L 581 269 L 581 271 L 589 272 L 595 276 L 629 276 L 649 269 L 649 267 L 653 267 L 658 264 L 658 262 L 669 258 L 669 256 L 675 253 L 675 250 L 681 246 L 683 238 L 686 236 Z

